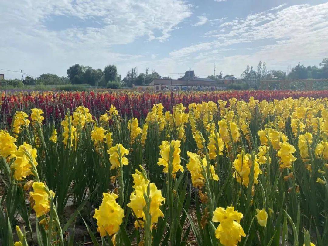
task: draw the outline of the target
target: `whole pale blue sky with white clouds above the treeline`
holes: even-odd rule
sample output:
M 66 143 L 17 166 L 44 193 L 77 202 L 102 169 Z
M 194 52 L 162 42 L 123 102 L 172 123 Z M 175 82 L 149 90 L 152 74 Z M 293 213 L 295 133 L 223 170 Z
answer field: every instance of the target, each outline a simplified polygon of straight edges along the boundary
M 15 0 L 0 9 L 0 69 L 33 76 L 66 76 L 78 63 L 115 64 L 122 77 L 132 67 L 205 77 L 216 62 L 217 73 L 239 77 L 259 60 L 286 71 L 328 57 L 326 1 Z

